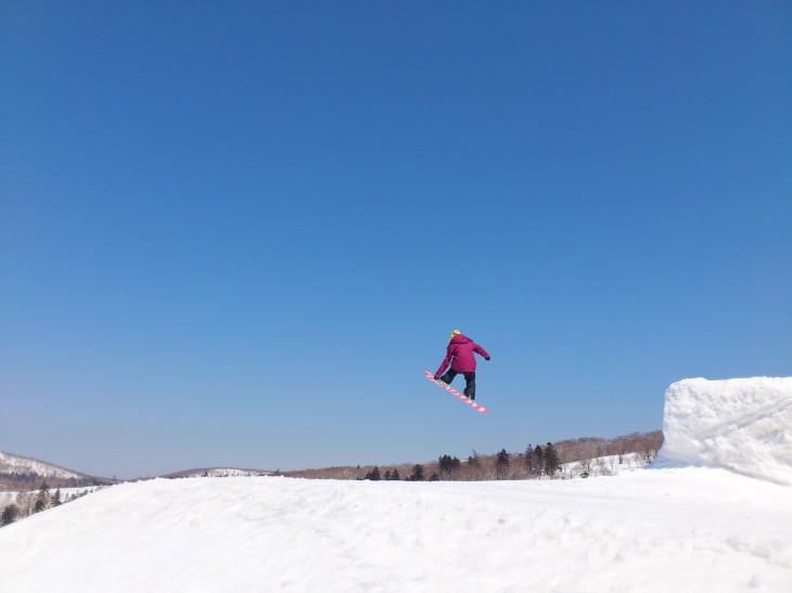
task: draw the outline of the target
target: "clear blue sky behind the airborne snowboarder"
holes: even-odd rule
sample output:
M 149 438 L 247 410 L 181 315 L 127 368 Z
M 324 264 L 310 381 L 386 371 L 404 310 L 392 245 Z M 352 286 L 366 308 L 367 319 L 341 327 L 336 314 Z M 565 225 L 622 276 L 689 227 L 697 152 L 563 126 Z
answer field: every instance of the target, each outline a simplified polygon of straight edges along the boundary
M 0 85 L 0 450 L 421 462 L 792 374 L 789 3 L 3 2 Z

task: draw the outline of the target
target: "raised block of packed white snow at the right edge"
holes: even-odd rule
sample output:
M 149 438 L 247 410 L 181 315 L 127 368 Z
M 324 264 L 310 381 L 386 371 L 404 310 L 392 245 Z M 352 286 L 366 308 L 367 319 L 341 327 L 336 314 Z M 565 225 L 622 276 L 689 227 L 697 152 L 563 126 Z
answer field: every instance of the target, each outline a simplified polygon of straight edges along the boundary
M 792 377 L 674 383 L 663 434 L 654 467 L 721 467 L 792 485 Z

